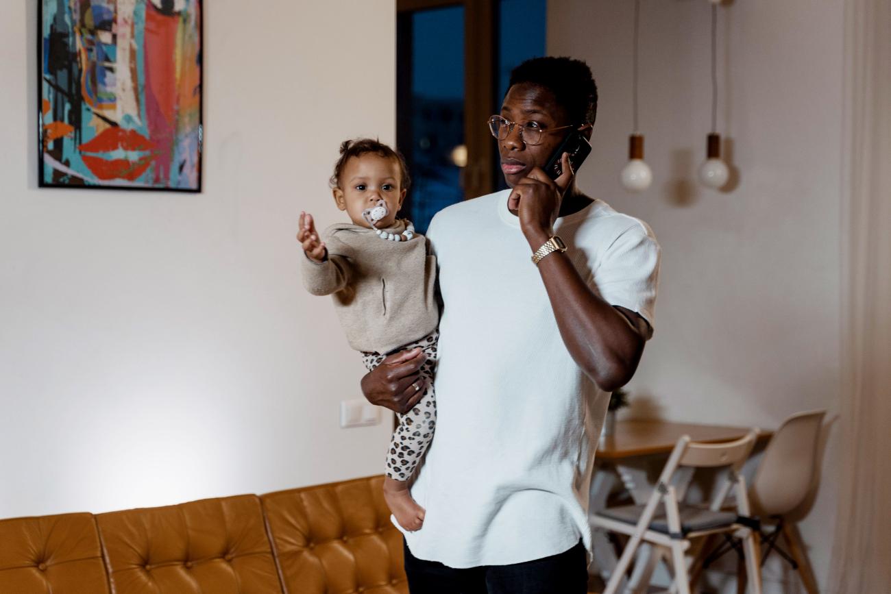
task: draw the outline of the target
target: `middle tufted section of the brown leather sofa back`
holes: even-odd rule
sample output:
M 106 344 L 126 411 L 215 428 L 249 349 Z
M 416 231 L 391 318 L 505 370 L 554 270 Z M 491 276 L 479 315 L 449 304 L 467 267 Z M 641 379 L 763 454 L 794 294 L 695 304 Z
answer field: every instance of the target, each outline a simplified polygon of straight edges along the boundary
M 256 495 L 96 516 L 115 594 L 281 592 Z

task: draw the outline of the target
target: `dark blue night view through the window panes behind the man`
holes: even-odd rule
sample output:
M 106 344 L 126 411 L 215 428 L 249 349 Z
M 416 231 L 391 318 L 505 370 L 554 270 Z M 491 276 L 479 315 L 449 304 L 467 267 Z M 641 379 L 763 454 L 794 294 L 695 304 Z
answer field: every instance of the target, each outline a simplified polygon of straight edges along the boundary
M 405 78 L 411 78 L 411 85 L 406 88 L 408 96 L 402 95 L 404 99 L 397 120 L 404 129 L 397 135 L 401 139 L 399 149 L 405 154 L 412 175 L 412 190 L 405 201 L 403 216 L 412 219 L 417 231 L 424 233 L 430 219 L 439 210 L 465 198 L 476 198 L 464 195 L 463 175 L 466 172 L 459 167 L 460 155 L 454 152 L 466 142 L 465 102 L 468 101 L 466 96 L 473 96 L 472 93 L 465 96 L 467 78 L 464 69 L 465 66 L 473 69 L 475 64 L 472 52 L 470 56 L 465 55 L 465 17 L 471 15 L 465 15 L 463 3 L 437 8 L 424 8 L 421 0 L 413 4 L 419 7 L 405 14 L 410 19 L 410 26 L 403 29 L 410 33 L 399 40 L 400 44 L 411 45 L 405 48 L 410 50 L 411 69 L 399 69 L 407 75 Z M 546 8 L 546 0 L 495 2 L 495 31 L 492 31 L 495 36 L 495 80 L 492 85 L 495 96 L 486 102 L 486 106 L 477 106 L 478 113 L 485 112 L 486 116 L 498 113 L 507 92 L 511 69 L 528 58 L 544 55 Z M 466 41 L 471 48 L 476 46 L 472 39 Z M 400 56 L 405 54 L 400 53 Z M 408 61 L 407 58 L 400 60 Z M 407 114 L 405 103 L 408 103 Z M 485 118 L 481 118 L 478 125 L 484 129 Z M 491 140 L 495 151 L 495 139 Z M 495 159 L 494 167 L 494 186 L 483 188 L 482 193 L 507 187 L 498 159 Z

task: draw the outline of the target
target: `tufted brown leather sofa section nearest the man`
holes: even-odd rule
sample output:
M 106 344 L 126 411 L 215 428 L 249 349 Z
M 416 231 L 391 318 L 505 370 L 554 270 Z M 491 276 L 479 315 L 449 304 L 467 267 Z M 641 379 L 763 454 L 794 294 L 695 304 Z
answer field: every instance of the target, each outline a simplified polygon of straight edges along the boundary
M 288 594 L 408 594 L 382 476 L 263 495 Z

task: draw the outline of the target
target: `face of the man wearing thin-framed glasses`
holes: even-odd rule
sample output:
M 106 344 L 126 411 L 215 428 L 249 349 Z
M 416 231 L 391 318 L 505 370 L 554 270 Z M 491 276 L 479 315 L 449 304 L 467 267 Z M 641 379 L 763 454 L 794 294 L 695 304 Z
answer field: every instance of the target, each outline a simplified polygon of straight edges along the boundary
M 552 152 L 557 149 L 568 132 L 567 129 L 554 134 L 544 133 L 539 144 L 530 146 L 523 142 L 521 128 L 537 126 L 543 130 L 550 130 L 578 123 L 569 121 L 567 111 L 557 103 L 557 98 L 550 89 L 531 83 L 513 85 L 508 89 L 504 95 L 501 116 L 511 122 L 517 122 L 517 126 L 513 127 L 507 138 L 496 141 L 501 155 L 504 181 L 511 188 L 529 175 L 533 167 L 544 168 Z

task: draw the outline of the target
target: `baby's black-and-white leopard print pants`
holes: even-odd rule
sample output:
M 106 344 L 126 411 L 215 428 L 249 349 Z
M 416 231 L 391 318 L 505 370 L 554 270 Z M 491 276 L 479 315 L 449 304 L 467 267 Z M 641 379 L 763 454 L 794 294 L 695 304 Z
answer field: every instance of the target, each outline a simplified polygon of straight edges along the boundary
M 439 331 L 433 330 L 421 340 L 416 340 L 399 350 L 411 350 L 421 346 L 427 354 L 427 361 L 421 365 L 421 378 L 428 379 L 428 386 L 424 389 L 421 400 L 414 405 L 411 411 L 402 415 L 396 415 L 399 421 L 393 438 L 390 440 L 387 455 L 387 476 L 397 481 L 407 481 L 412 476 L 418 462 L 427 452 L 427 446 L 433 439 L 433 430 L 437 426 L 437 403 L 433 392 L 433 368 L 437 362 L 437 340 Z M 371 371 L 384 360 L 387 355 L 380 353 L 362 354 L 362 362 Z

